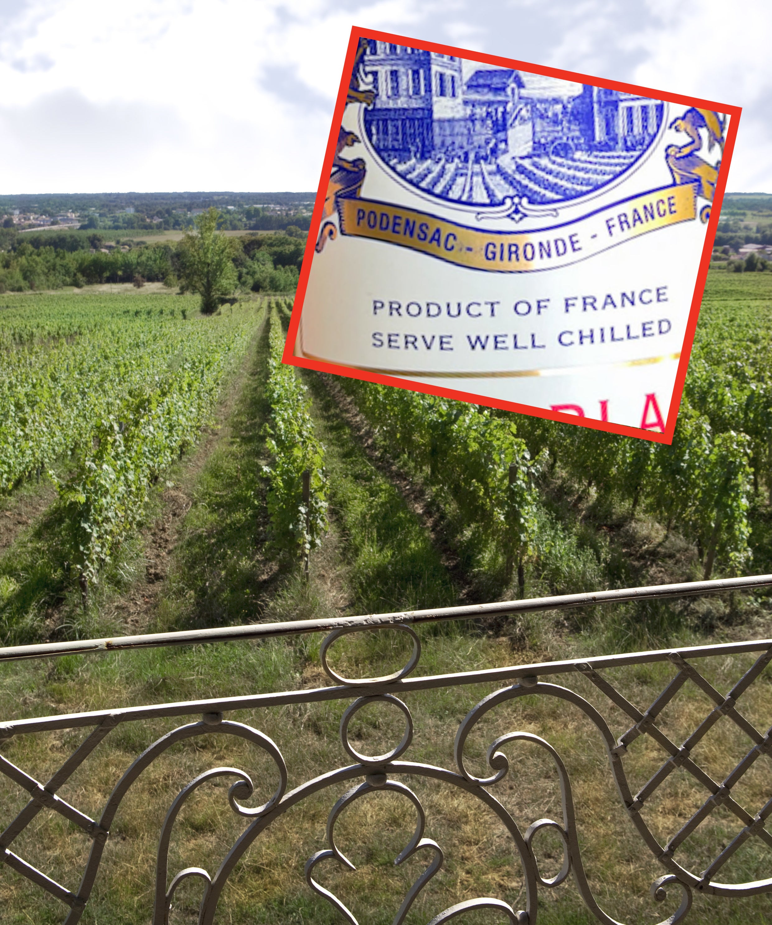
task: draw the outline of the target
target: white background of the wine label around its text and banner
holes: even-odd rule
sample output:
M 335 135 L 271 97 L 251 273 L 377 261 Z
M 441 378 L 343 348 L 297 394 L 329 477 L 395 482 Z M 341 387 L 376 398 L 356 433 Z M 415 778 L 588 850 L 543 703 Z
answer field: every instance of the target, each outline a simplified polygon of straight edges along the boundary
M 343 127 L 355 130 L 361 138 L 358 108 L 348 107 Z M 665 110 L 666 125 L 682 111 L 677 105 L 666 105 Z M 666 166 L 665 148 L 686 140 L 682 132 L 666 129 L 643 164 L 613 189 L 579 205 L 561 204 L 559 218 L 527 218 L 517 224 L 509 219 L 477 222 L 474 209 L 454 208 L 407 189 L 363 143 L 345 149 L 343 156 L 352 160 L 362 157 L 367 162 L 363 198 L 414 208 L 481 230 L 528 232 L 562 225 L 630 196 L 669 186 L 673 179 Z M 698 212 L 702 205 L 704 201 L 699 200 Z M 619 207 L 622 210 L 624 206 Z M 705 226 L 698 217 L 623 241 L 574 265 L 528 273 L 469 269 L 385 241 L 339 234 L 314 255 L 299 346 L 306 356 L 325 362 L 390 372 L 480 397 L 542 408 L 577 404 L 593 418 L 601 417 L 600 402 L 607 401 L 609 421 L 638 427 L 648 394 L 654 393 L 663 417 L 667 415 L 678 367 L 674 354 L 682 348 L 704 234 Z M 650 304 L 640 304 L 641 290 L 651 290 L 644 295 Z M 656 301 L 657 290 L 660 302 Z M 620 307 L 623 291 L 635 292 L 634 306 Z M 607 294 L 619 307 L 600 307 Z M 589 306 L 582 310 L 584 296 L 595 297 L 597 310 Z M 567 312 L 566 299 L 571 298 L 576 302 Z M 537 300 L 548 303 L 541 314 L 537 314 Z M 375 301 L 387 306 L 389 302 L 399 302 L 402 314 L 390 317 L 388 308 L 374 312 Z M 442 314 L 435 318 L 427 318 L 424 313 L 408 317 L 407 302 L 418 302 L 424 306 L 424 313 L 427 302 L 438 302 Z M 451 302 L 454 313 L 456 303 L 461 302 L 461 316 L 448 317 L 446 302 Z M 481 303 L 470 309 L 481 313 L 480 317 L 467 314 L 469 302 Z M 485 302 L 499 303 L 494 317 Z M 515 302 L 530 302 L 530 314 L 517 315 Z M 412 310 L 415 312 L 415 307 Z M 519 310 L 527 309 L 521 304 Z M 645 331 L 654 336 L 641 337 L 643 322 L 653 322 Z M 668 324 L 667 333 L 660 334 L 659 330 L 666 330 Z M 611 342 L 612 326 L 616 342 Z M 581 345 L 579 331 L 584 335 Z M 384 344 L 380 348 L 373 346 L 375 332 Z M 562 339 L 565 343 L 573 340 L 574 345 L 561 345 L 561 332 L 571 332 L 563 334 Z M 392 348 L 388 346 L 389 334 L 398 335 L 392 336 Z M 410 347 L 415 342 L 412 339 L 408 339 L 405 349 L 405 334 L 417 337 L 419 350 Z M 518 346 L 529 349 L 513 349 L 515 334 Z M 446 336 L 443 346 L 453 350 L 438 349 L 441 335 Z M 486 350 L 470 349 L 467 337 L 486 335 Z M 495 335 L 500 336 L 498 345 L 506 344 L 508 350 L 493 349 Z M 424 348 L 425 343 L 431 344 L 430 350 Z M 533 344 L 544 346 L 539 349 Z M 654 359 L 658 362 L 626 365 Z M 521 375 L 501 376 L 507 371 Z M 456 377 L 454 372 L 467 375 Z M 476 372 L 479 377 L 468 376 Z M 422 373 L 445 375 L 421 376 Z

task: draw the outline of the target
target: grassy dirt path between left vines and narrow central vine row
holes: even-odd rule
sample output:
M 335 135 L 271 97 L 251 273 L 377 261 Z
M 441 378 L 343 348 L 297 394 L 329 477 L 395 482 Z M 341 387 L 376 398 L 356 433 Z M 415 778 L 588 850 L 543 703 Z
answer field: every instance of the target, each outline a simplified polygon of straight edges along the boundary
M 266 547 L 267 487 L 259 472 L 268 462 L 260 436 L 268 413 L 261 408 L 268 317 L 267 311 L 218 405 L 215 425 L 205 429 L 198 447 L 165 476 L 171 484 L 159 492 L 156 517 L 142 534 L 143 567 L 128 592 L 109 608 L 108 616 L 127 633 L 148 632 L 156 618 L 157 628 L 173 629 L 313 619 L 346 610 L 334 525 L 311 557 L 307 584 L 297 581 L 287 563 Z M 215 475 L 207 468 L 212 465 Z M 252 474 L 249 485 L 244 481 L 247 471 Z M 255 492 L 251 500 L 246 498 L 249 486 Z M 244 510 L 253 513 L 236 524 L 234 506 L 243 502 Z M 172 611 L 175 616 L 167 625 Z

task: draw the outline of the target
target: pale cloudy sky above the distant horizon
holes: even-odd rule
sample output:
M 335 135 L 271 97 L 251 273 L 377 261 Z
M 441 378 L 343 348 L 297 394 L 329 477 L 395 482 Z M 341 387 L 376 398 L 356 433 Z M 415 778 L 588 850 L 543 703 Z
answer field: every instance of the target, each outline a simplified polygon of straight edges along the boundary
M 772 192 L 769 0 L 0 0 L 0 193 L 315 190 L 354 24 L 741 105 Z

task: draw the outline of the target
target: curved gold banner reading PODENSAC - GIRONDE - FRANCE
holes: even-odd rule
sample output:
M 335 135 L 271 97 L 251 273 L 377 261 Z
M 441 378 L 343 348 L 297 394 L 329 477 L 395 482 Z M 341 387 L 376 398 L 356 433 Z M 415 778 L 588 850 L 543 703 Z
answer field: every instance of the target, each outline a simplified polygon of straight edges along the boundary
M 468 228 L 427 212 L 367 199 L 339 197 L 337 204 L 345 235 L 383 240 L 451 264 L 497 273 L 576 264 L 641 234 L 697 216 L 691 183 L 631 196 L 541 231 Z

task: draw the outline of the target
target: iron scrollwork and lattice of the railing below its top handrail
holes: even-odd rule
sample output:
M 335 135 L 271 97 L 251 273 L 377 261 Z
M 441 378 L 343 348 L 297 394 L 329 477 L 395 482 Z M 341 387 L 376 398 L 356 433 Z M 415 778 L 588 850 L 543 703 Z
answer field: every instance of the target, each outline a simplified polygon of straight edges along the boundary
M 571 782 L 566 764 L 554 746 L 539 735 L 516 730 L 499 735 L 488 747 L 486 754 L 488 773 L 477 776 L 467 767 L 465 746 L 469 735 L 475 730 L 479 721 L 486 714 L 505 703 L 528 696 L 556 699 L 579 709 L 599 734 L 622 807 L 632 825 L 641 835 L 644 845 L 647 846 L 652 856 L 665 869 L 663 875 L 657 878 L 651 886 L 651 894 L 654 900 L 665 900 L 667 890 L 671 887 L 677 887 L 679 891 L 679 907 L 668 918 L 664 919 L 661 925 L 676 925 L 688 915 L 691 908 L 692 893 L 695 890 L 704 894 L 734 896 L 772 892 L 772 877 L 748 883 L 726 883 L 716 880 L 718 871 L 748 839 L 760 838 L 766 845 L 772 846 L 772 834 L 767 832 L 765 826 L 766 820 L 772 816 L 772 797 L 767 800 L 764 806 L 753 813 L 741 805 L 734 793 L 737 783 L 740 782 L 743 775 L 749 771 L 755 761 L 763 757 L 769 759 L 770 755 L 772 755 L 772 728 L 768 729 L 766 733 L 760 732 L 738 709 L 738 702 L 742 695 L 753 685 L 753 682 L 759 678 L 761 672 L 772 660 L 772 643 L 768 640 L 760 642 L 755 647 L 755 650 L 760 652 L 758 658 L 726 696 L 718 692 L 704 677 L 704 674 L 698 672 L 691 664 L 691 661 L 688 660 L 689 650 L 687 649 L 662 653 L 639 653 L 641 662 L 644 660 L 666 661 L 675 669 L 675 675 L 667 683 L 662 693 L 654 699 L 648 709 L 641 710 L 629 702 L 604 676 L 604 667 L 615 664 L 613 659 L 586 660 L 573 664 L 560 663 L 559 665 L 545 663 L 529 666 L 528 671 L 512 668 L 511 670 L 497 669 L 491 672 L 463 672 L 440 677 L 411 677 L 420 659 L 421 645 L 415 629 L 405 622 L 392 624 L 392 628 L 396 628 L 401 633 L 408 635 L 413 644 L 412 653 L 403 668 L 381 677 L 358 679 L 343 677 L 330 668 L 328 662 L 330 646 L 342 635 L 361 632 L 367 628 L 373 629 L 375 627 L 357 626 L 336 629 L 327 636 L 320 648 L 322 668 L 333 685 L 335 685 L 323 689 L 324 697 L 326 699 L 350 701 L 349 705 L 342 711 L 339 735 L 343 752 L 354 763 L 321 774 L 311 781 L 301 783 L 293 790 L 287 789 L 288 771 L 279 746 L 268 735 L 252 726 L 224 719 L 223 712 L 229 709 L 270 706 L 282 702 L 291 702 L 291 700 L 297 703 L 312 702 L 320 698 L 320 691 L 255 695 L 253 697 L 230 698 L 228 701 L 192 701 L 187 704 L 158 705 L 144 709 L 118 709 L 93 714 L 73 714 L 70 717 L 46 717 L 33 721 L 0 724 L 0 743 L 7 741 L 15 734 L 24 732 L 43 732 L 47 729 L 55 728 L 93 727 L 92 732 L 85 737 L 81 745 L 76 748 L 47 783 L 39 783 L 26 771 L 0 755 L 0 773 L 29 794 L 27 805 L 6 826 L 6 830 L 0 834 L 2 860 L 42 890 L 55 896 L 68 906 L 65 921 L 67 925 L 75 925 L 81 919 L 83 910 L 89 901 L 111 826 L 121 801 L 129 793 L 132 784 L 170 746 L 200 735 L 218 734 L 241 738 L 266 754 L 275 768 L 278 783 L 268 800 L 255 808 L 243 805 L 243 801 L 254 795 L 255 785 L 253 780 L 247 773 L 235 767 L 216 767 L 204 771 L 181 788 L 178 796 L 175 797 L 168 809 L 159 838 L 156 859 L 154 925 L 168 925 L 169 911 L 178 888 L 181 883 L 191 880 L 200 881 L 202 884 L 199 906 L 200 925 L 211 925 L 230 873 L 243 858 L 250 845 L 253 845 L 260 834 L 265 832 L 288 809 L 298 805 L 307 797 L 328 789 L 333 793 L 336 791 L 340 793 L 342 789 L 342 794 L 338 796 L 330 809 L 326 833 L 327 846 L 320 847 L 308 858 L 305 864 L 305 881 L 310 890 L 330 903 L 330 906 L 336 909 L 342 919 L 349 922 L 350 925 L 356 925 L 354 913 L 342 903 L 336 894 L 324 887 L 318 880 L 320 876 L 323 878 L 324 871 L 330 870 L 330 864 L 333 863 L 342 866 L 344 870 L 355 870 L 352 861 L 342 854 L 336 844 L 336 820 L 340 818 L 344 809 L 352 806 L 361 797 L 367 795 L 388 793 L 400 796 L 405 798 L 414 808 L 417 820 L 415 831 L 408 844 L 394 858 L 393 863 L 401 865 L 410 857 L 420 856 L 426 857 L 428 864 L 409 887 L 401 906 L 395 913 L 393 925 L 402 925 L 419 894 L 430 880 L 442 870 L 445 858 L 442 846 L 433 839 L 426 837 L 426 812 L 417 793 L 400 780 L 405 776 L 410 776 L 412 779 L 434 780 L 476 797 L 479 803 L 491 811 L 493 816 L 504 827 L 505 832 L 512 841 L 523 872 L 525 908 L 515 909 L 501 897 L 480 896 L 465 899 L 436 913 L 430 920 L 430 925 L 442 925 L 442 923 L 451 919 L 461 918 L 465 913 L 474 909 L 490 909 L 499 916 L 499 919 L 504 916 L 512 925 L 527 925 L 527 923 L 533 925 L 539 908 L 539 891 L 558 888 L 567 881 L 569 875 L 573 877 L 579 889 L 579 894 L 596 919 L 604 923 L 604 925 L 620 925 L 620 923 L 616 922 L 616 919 L 612 919 L 604 912 L 591 892 L 579 850 Z M 719 646 L 714 647 L 714 649 L 716 656 L 721 656 L 725 650 L 728 651 L 727 647 Z M 714 653 L 711 652 L 711 654 Z M 636 656 L 626 655 L 618 657 L 617 660 L 623 660 L 624 664 L 629 665 L 635 664 L 636 658 Z M 622 661 L 619 661 L 619 663 L 622 663 Z M 509 672 L 509 681 L 487 697 L 483 697 L 468 712 L 466 718 L 458 727 L 454 743 L 456 770 L 405 759 L 405 754 L 408 752 L 413 739 L 413 717 L 405 700 L 402 698 L 405 694 L 430 687 L 450 687 L 480 681 L 496 681 L 504 676 L 503 672 Z M 576 691 L 567 686 L 542 680 L 551 675 L 555 676 L 560 672 L 574 672 L 586 678 L 595 690 L 604 695 L 607 701 L 614 704 L 616 709 L 621 709 L 623 713 L 629 716 L 632 722 L 629 729 L 621 736 L 615 737 L 604 716 L 586 697 L 581 697 Z M 661 722 L 658 721 L 667 704 L 686 684 L 696 685 L 712 700 L 714 707 L 694 732 L 679 744 L 668 737 L 662 728 Z M 350 726 L 355 715 L 360 709 L 371 705 L 397 709 L 405 719 L 405 730 L 401 740 L 391 749 L 387 749 L 382 754 L 375 756 L 362 754 L 352 745 L 350 740 Z M 98 819 L 92 819 L 75 806 L 72 806 L 68 801 L 57 796 L 57 791 L 62 785 L 68 781 L 81 764 L 90 757 L 94 748 L 118 724 L 136 722 L 150 716 L 180 716 L 195 712 L 198 712 L 201 716 L 198 722 L 185 723 L 161 736 L 131 763 L 130 767 L 116 783 Z M 743 734 L 750 738 L 753 745 L 723 780 L 716 781 L 697 763 L 694 759 L 693 751 L 704 735 L 716 722 L 722 719 L 725 722 L 733 722 Z M 633 793 L 624 767 L 625 757 L 629 753 L 631 743 L 644 735 L 649 736 L 658 746 L 664 749 L 667 758 L 650 780 L 636 793 Z M 511 772 L 510 759 L 507 758 L 503 750 L 505 746 L 516 746 L 516 748 L 520 746 L 536 747 L 541 749 L 542 753 L 551 760 L 560 788 L 561 817 L 559 820 L 548 818 L 534 820 L 525 832 L 520 831 L 509 811 L 495 796 L 496 786 L 502 783 Z M 678 768 L 686 771 L 694 781 L 700 783 L 705 789 L 706 796 L 703 804 L 684 823 L 679 832 L 675 833 L 666 845 L 661 845 L 643 819 L 641 809 L 646 806 L 647 801 L 650 800 L 657 788 L 666 781 L 666 778 Z M 228 801 L 231 811 L 244 821 L 243 832 L 230 845 L 230 850 L 214 873 L 210 874 L 207 870 L 199 867 L 188 867 L 179 870 L 169 880 L 168 853 L 175 821 L 178 819 L 186 801 L 199 787 L 218 779 L 228 779 L 232 782 L 228 790 Z M 718 855 L 704 870 L 688 870 L 677 860 L 676 854 L 679 846 L 719 806 L 727 808 L 741 821 L 741 832 L 728 845 L 722 847 Z M 82 833 L 85 833 L 92 840 L 89 857 L 77 892 L 70 891 L 55 882 L 43 871 L 37 870 L 10 849 L 10 845 L 30 825 L 31 821 L 43 808 L 53 810 L 74 823 Z M 551 877 L 542 874 L 534 848 L 537 835 L 543 832 L 554 833 L 562 845 L 560 870 Z

